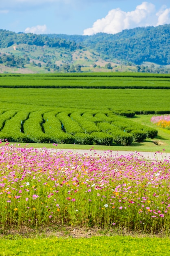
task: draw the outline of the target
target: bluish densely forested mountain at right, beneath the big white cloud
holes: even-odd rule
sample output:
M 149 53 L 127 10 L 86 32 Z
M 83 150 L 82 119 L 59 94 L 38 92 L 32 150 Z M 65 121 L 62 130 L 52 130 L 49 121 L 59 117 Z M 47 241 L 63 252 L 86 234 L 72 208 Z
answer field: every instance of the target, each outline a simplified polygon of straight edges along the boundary
M 159 65 L 170 64 L 170 24 L 158 27 L 137 27 L 118 34 L 98 33 L 93 36 L 49 34 L 94 49 L 105 60 L 130 61 L 141 65 L 150 61 Z

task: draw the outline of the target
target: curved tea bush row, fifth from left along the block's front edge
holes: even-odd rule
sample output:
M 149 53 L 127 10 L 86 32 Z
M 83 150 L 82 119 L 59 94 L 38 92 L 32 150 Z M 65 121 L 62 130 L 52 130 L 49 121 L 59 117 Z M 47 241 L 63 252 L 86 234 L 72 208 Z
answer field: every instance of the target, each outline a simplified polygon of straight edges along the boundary
M 85 133 L 100 132 L 99 128 L 96 126 L 96 124 L 94 124 L 94 122 L 81 116 L 81 112 L 73 112 L 70 117 L 81 126 Z

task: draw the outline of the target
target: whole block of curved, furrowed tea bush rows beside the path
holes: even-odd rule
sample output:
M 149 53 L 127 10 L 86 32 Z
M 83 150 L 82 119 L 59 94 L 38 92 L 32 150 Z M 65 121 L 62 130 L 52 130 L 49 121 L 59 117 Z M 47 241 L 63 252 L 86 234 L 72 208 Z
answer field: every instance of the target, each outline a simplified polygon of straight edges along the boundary
M 154 138 L 157 130 L 137 124 L 113 112 L 0 112 L 0 138 L 11 142 L 99 144 L 122 146 Z

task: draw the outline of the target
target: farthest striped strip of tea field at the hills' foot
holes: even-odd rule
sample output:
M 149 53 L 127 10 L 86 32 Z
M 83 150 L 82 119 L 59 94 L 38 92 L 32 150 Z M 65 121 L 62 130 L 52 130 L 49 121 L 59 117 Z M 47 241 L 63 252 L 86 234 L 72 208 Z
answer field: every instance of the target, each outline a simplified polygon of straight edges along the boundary
M 137 76 L 135 73 L 101 75 L 1 75 L 2 88 L 103 88 L 170 89 L 170 75 Z

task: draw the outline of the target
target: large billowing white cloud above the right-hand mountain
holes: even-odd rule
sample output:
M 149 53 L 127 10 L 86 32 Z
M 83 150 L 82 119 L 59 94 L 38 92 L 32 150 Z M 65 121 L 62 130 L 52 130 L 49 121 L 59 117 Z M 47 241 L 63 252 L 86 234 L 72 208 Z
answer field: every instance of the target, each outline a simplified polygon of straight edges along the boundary
M 91 28 L 84 30 L 84 35 L 99 32 L 116 34 L 123 29 L 134 27 L 157 26 L 170 23 L 170 9 L 163 6 L 156 12 L 155 5 L 142 2 L 134 11 L 122 11 L 120 8 L 109 11 L 105 18 L 96 20 Z

